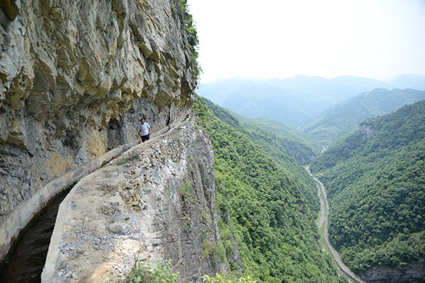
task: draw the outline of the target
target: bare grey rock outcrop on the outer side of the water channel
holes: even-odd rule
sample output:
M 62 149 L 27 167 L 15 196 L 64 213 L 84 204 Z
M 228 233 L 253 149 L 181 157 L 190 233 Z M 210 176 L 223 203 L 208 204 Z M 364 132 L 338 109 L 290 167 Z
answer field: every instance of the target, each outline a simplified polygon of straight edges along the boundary
M 213 163 L 186 121 L 82 178 L 60 205 L 42 282 L 118 282 L 136 259 L 171 259 L 179 282 L 227 271 Z

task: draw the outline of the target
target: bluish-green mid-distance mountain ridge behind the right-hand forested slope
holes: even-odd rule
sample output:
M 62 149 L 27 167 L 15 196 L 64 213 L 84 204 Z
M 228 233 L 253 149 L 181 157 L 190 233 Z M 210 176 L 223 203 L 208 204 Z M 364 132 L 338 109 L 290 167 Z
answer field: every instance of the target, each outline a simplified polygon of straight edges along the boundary
M 332 105 L 302 126 L 314 141 L 328 145 L 356 129 L 358 123 L 425 99 L 425 91 L 376 88 Z

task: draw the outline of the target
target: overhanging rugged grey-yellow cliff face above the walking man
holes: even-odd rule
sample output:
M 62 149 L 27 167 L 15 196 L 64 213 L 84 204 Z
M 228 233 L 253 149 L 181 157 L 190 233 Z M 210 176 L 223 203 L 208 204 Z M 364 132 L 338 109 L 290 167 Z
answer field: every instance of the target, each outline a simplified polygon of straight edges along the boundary
M 180 121 L 196 81 L 179 1 L 0 6 L 2 258 L 33 214 L 73 181 L 52 185 L 59 176 L 135 141 L 141 116 L 154 132 Z

